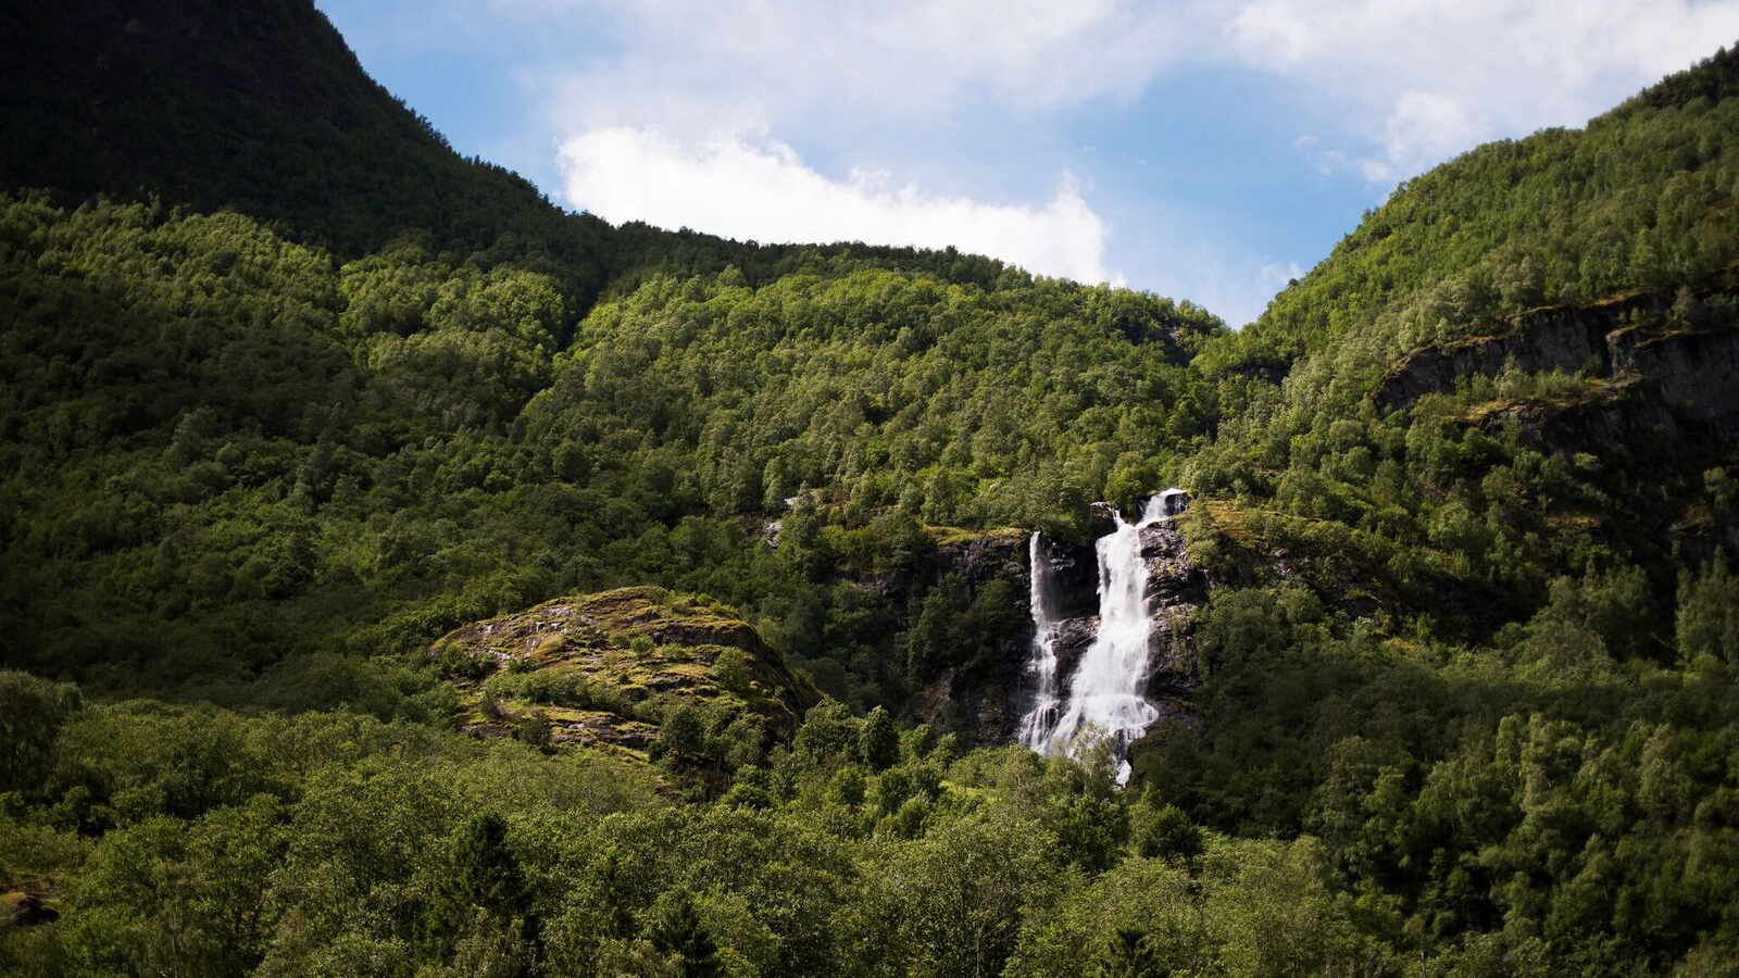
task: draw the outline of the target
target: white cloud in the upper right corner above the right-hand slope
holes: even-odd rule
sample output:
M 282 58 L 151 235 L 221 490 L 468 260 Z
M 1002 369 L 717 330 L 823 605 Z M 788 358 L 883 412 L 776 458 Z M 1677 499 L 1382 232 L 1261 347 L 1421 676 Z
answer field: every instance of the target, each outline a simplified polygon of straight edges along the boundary
M 1226 10 L 1221 56 L 1297 84 L 1344 118 L 1353 143 L 1309 151 L 1374 183 L 1485 139 L 1581 125 L 1739 38 L 1739 0 L 1254 0 Z

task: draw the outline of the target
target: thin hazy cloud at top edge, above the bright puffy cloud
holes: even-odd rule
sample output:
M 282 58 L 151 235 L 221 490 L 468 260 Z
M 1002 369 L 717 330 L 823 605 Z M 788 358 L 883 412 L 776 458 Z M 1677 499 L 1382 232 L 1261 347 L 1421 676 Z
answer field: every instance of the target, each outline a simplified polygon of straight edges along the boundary
M 614 56 L 555 82 L 570 125 L 767 125 L 819 115 L 936 118 L 1134 97 L 1186 31 L 1139 0 L 497 0 L 584 16 Z

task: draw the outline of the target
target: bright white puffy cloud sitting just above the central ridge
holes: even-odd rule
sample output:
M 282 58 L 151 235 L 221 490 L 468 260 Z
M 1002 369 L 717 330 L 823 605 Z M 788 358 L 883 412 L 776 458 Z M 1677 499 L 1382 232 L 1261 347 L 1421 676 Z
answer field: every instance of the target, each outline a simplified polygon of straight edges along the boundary
M 1045 275 L 1113 278 L 1106 224 L 1068 174 L 1042 207 L 996 205 L 892 186 L 880 171 L 830 179 L 765 134 L 685 141 L 631 127 L 574 136 L 560 165 L 569 200 L 607 221 L 760 242 L 955 245 Z

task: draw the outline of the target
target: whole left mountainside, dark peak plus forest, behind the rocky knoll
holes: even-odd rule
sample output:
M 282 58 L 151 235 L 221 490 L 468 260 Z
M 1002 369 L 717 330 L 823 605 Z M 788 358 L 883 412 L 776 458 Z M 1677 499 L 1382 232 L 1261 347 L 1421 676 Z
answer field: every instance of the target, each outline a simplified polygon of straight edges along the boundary
M 1179 458 L 1149 428 L 1205 428 L 1188 303 L 562 214 L 308 3 L 3 16 L 9 663 L 207 684 L 663 583 L 897 703 L 908 623 L 842 560 L 1080 533 Z

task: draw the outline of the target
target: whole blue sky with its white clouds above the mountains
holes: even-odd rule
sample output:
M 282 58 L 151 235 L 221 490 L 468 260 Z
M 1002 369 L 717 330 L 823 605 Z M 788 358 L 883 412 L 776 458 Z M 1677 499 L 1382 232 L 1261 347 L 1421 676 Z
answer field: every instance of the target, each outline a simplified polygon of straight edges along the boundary
M 1396 181 L 1739 40 L 1739 0 L 316 3 L 565 207 L 953 244 L 1233 325 Z

